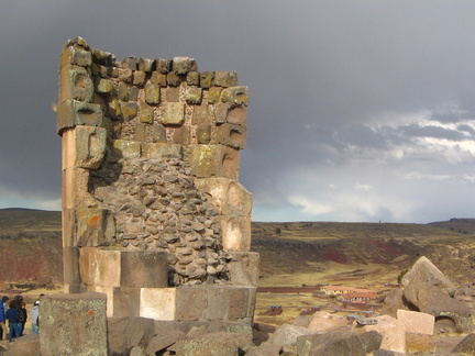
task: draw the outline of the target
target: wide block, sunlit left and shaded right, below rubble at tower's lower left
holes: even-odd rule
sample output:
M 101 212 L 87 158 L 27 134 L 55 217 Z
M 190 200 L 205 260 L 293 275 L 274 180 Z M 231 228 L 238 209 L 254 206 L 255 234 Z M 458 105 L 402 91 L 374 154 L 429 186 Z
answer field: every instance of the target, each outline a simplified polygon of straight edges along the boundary
M 168 283 L 165 252 L 84 247 L 79 263 L 87 286 L 164 288 Z

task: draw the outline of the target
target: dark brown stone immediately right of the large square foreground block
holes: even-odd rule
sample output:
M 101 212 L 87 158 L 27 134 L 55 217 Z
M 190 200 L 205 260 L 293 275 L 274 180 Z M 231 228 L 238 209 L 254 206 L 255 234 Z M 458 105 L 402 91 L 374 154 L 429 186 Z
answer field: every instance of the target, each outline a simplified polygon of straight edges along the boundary
M 129 355 L 134 346 L 146 347 L 155 330 L 154 321 L 145 318 L 110 318 L 107 326 L 112 355 Z

